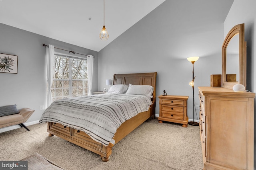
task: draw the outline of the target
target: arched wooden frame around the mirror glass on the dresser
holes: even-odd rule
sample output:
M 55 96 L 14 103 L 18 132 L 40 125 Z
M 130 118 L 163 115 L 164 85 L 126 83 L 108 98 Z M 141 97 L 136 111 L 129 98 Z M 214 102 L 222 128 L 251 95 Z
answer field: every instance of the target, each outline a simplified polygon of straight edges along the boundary
M 230 40 L 239 34 L 239 81 L 226 81 L 226 49 Z M 246 41 L 244 41 L 244 23 L 234 26 L 228 32 L 222 45 L 222 87 L 233 89 L 235 84 L 242 84 L 246 89 Z

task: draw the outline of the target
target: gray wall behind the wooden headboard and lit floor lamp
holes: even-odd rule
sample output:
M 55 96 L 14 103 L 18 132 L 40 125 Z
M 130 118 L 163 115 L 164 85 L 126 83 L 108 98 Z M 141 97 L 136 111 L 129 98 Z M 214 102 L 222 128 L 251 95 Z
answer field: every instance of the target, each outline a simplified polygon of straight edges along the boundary
M 112 79 L 114 73 L 156 71 L 156 95 L 166 90 L 168 95 L 189 96 L 188 117 L 193 119 L 193 93 L 188 85 L 192 63 L 186 58 L 200 57 L 194 63 L 196 105 L 197 87 L 210 86 L 210 75 L 222 74 L 224 19 L 214 22 L 215 16 L 202 15 L 218 8 L 211 3 L 186 1 L 181 6 L 176 0 L 166 0 L 99 51 L 99 90 L 106 87 L 106 79 Z M 157 98 L 156 114 L 158 103 Z

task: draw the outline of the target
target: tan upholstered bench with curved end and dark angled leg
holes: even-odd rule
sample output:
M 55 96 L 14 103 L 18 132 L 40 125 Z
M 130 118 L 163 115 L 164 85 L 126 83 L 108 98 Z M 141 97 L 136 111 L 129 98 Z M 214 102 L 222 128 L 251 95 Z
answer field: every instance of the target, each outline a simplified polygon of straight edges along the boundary
M 0 128 L 8 127 L 12 125 L 20 125 L 29 131 L 29 129 L 23 124 L 34 113 L 34 110 L 30 108 L 20 109 L 20 113 L 6 115 L 0 117 Z

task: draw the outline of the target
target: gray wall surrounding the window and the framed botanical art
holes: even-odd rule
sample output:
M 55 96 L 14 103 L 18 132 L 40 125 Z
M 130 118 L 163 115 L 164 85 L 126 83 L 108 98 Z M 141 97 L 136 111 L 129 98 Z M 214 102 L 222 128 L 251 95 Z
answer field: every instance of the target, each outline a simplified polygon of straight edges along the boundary
M 18 74 L 0 73 L 0 106 L 16 104 L 18 109 L 34 109 L 27 125 L 38 123 L 43 113 L 40 106 L 46 107 L 46 49 L 42 43 L 95 56 L 93 90 L 98 90 L 98 52 L 0 23 L 0 53 L 18 55 Z M 2 128 L 1 131 L 16 127 L 19 126 Z

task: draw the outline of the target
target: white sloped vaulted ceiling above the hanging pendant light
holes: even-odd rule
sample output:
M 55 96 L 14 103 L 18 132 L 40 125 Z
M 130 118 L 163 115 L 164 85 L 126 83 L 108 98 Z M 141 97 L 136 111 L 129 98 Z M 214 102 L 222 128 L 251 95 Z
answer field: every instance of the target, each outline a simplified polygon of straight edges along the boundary
M 0 0 L 0 23 L 100 51 L 165 0 Z

